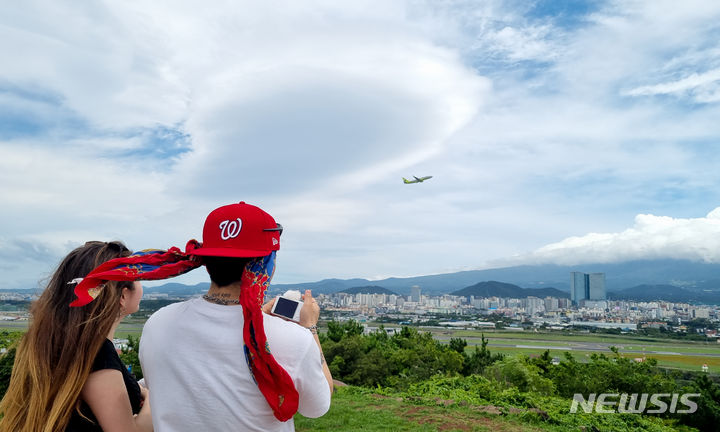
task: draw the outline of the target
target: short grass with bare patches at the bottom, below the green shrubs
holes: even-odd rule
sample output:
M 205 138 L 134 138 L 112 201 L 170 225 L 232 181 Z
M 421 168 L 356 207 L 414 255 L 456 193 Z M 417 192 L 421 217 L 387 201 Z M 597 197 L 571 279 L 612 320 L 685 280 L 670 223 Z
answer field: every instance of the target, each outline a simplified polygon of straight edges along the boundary
M 517 419 L 488 414 L 469 406 L 414 404 L 401 398 L 361 394 L 339 388 L 330 411 L 317 419 L 295 416 L 295 430 L 304 431 L 494 431 L 522 432 L 558 430 L 529 425 Z

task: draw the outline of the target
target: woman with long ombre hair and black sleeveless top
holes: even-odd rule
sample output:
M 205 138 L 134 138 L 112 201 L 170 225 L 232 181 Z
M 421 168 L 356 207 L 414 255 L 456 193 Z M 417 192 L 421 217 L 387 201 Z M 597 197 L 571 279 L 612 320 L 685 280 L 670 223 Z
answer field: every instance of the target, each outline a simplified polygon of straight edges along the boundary
M 31 307 L 0 402 L 0 432 L 152 431 L 147 390 L 125 369 L 112 338 L 136 312 L 137 281 L 105 280 L 91 302 L 70 307 L 93 269 L 130 256 L 120 242 L 87 242 L 68 254 Z

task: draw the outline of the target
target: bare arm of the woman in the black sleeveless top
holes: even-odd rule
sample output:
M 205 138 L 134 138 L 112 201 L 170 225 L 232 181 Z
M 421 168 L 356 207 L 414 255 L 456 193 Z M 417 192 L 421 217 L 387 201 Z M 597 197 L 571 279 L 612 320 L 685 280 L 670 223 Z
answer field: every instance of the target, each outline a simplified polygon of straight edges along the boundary
M 105 432 L 152 432 L 150 399 L 134 416 L 122 372 L 102 369 L 88 376 L 80 396 L 88 404 Z

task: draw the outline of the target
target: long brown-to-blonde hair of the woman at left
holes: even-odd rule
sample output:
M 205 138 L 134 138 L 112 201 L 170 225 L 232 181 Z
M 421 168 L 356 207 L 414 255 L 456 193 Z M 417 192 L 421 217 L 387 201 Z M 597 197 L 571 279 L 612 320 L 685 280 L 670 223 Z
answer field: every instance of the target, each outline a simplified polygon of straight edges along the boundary
M 56 432 L 79 409 L 80 391 L 100 347 L 120 314 L 123 288 L 107 281 L 92 303 L 69 307 L 75 278 L 113 258 L 128 256 L 120 242 L 87 242 L 68 254 L 31 307 L 32 321 L 15 354 L 0 402 L 0 432 Z

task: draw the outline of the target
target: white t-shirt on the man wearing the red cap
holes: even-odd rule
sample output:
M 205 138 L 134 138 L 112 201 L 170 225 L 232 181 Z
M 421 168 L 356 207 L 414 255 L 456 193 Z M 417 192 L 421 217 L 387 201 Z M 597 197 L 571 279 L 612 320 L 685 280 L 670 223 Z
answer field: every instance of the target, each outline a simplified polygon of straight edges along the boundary
M 263 314 L 275 360 L 300 395 L 300 414 L 320 417 L 330 388 L 320 349 L 296 323 Z M 155 432 L 294 431 L 281 422 L 252 379 L 243 351 L 242 306 L 202 298 L 154 313 L 140 339 L 140 364 L 150 390 Z

